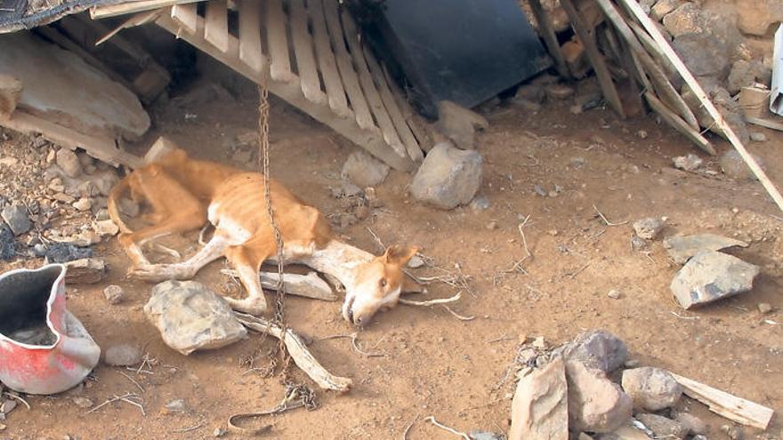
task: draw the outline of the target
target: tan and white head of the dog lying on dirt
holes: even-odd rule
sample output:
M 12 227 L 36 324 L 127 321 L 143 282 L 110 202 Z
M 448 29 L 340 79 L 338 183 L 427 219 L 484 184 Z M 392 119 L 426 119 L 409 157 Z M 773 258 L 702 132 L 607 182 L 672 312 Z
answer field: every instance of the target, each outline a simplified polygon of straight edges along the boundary
M 359 265 L 353 286 L 346 288 L 345 320 L 367 325 L 378 310 L 396 306 L 405 276 L 402 268 L 417 251 L 415 247 L 393 245 L 380 257 Z

